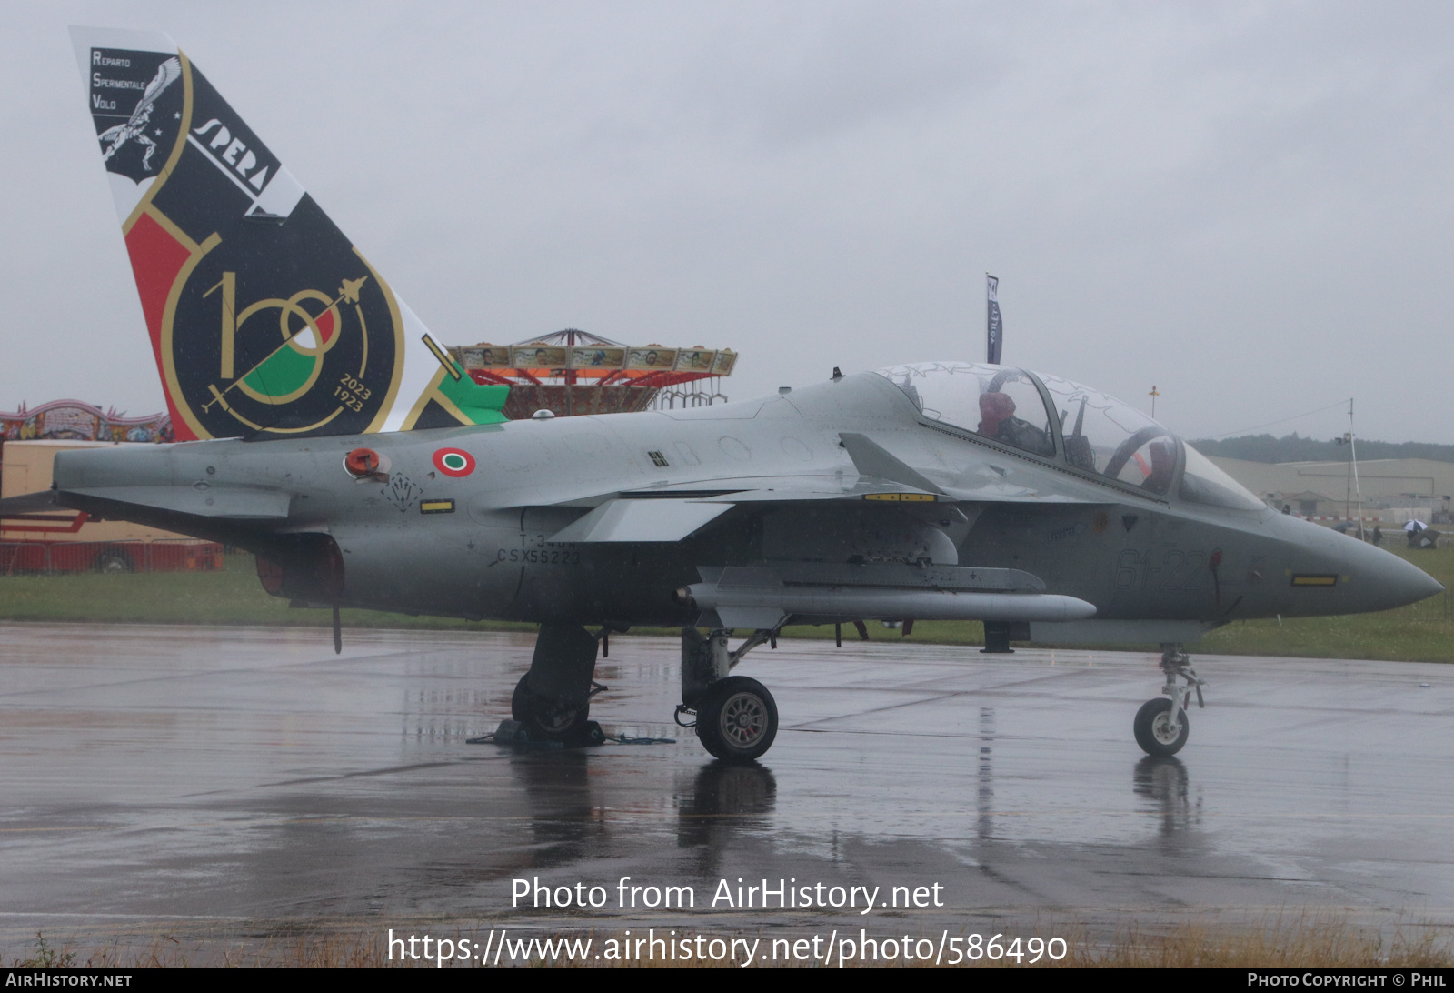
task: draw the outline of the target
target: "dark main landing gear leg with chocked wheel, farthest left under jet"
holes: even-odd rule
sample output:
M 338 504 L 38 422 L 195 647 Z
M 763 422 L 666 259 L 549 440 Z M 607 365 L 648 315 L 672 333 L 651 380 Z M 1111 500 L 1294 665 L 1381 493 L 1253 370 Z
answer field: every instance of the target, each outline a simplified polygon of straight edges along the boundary
M 590 697 L 599 689 L 598 636 L 579 625 L 541 625 L 531 670 L 510 699 L 510 716 L 537 741 L 599 744 L 601 725 L 590 718 Z

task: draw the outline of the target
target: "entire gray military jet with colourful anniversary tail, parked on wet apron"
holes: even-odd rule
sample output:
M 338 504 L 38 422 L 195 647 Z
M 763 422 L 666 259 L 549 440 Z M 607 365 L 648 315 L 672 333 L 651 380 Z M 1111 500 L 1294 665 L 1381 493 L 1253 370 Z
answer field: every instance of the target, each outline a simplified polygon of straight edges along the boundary
M 1133 731 L 1169 756 L 1202 702 L 1184 651 L 1202 632 L 1442 588 L 1275 513 L 1125 403 L 1008 365 L 835 368 L 758 400 L 506 422 L 507 387 L 462 373 L 169 38 L 74 41 L 188 440 L 61 453 L 52 491 L 0 511 L 252 550 L 268 593 L 334 609 L 336 639 L 340 606 L 538 623 L 512 703 L 531 735 L 599 731 L 611 632 L 678 626 L 678 721 L 749 761 L 778 711 L 731 670 L 784 625 L 960 619 L 984 622 L 986 651 L 1160 644 L 1163 695 Z M 169 66 L 180 86 L 156 84 Z M 141 118 L 148 144 L 115 140 Z

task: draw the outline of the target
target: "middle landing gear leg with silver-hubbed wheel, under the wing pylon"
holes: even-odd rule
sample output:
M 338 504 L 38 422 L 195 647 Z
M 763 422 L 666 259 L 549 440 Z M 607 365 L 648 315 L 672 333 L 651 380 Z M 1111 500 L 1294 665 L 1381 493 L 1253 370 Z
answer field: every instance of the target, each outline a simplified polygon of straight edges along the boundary
M 723 761 L 753 761 L 778 735 L 778 703 L 768 687 L 746 676 L 728 676 L 758 645 L 776 645 L 776 635 L 758 630 L 737 651 L 728 651 L 724 629 L 705 638 L 695 628 L 682 629 L 682 703 L 676 722 L 696 728 L 702 747 Z M 683 713 L 695 713 L 696 722 L 685 724 Z

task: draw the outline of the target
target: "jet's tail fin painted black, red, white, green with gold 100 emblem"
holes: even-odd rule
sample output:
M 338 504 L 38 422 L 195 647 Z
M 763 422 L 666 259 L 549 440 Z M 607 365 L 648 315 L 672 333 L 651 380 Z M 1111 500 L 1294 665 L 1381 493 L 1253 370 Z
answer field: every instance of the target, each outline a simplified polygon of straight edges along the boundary
M 167 35 L 71 42 L 179 440 L 505 419 Z

